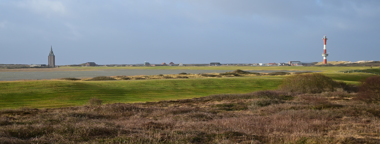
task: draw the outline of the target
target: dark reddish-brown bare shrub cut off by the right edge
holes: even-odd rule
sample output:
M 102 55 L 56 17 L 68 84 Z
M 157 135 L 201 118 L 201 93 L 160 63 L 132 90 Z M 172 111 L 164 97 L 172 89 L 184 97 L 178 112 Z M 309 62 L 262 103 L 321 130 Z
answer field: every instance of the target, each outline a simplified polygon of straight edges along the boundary
M 358 98 L 363 101 L 380 103 L 380 76 L 367 77 L 361 81 Z

